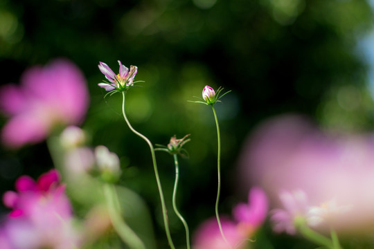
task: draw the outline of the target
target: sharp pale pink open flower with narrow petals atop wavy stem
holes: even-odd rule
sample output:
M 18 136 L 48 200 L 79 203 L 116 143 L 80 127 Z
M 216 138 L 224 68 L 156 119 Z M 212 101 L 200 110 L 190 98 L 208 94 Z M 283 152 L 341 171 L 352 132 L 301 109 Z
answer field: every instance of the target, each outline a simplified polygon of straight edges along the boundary
M 134 77 L 136 73 L 138 73 L 138 68 L 136 66 L 130 66 L 129 71 L 129 68 L 123 66 L 121 61 L 118 60 L 118 64 L 119 73 L 116 75 L 116 73 L 114 73 L 107 64 L 100 62 L 98 68 L 100 69 L 101 73 L 105 75 L 107 80 L 109 80 L 109 82 L 99 83 L 98 86 L 104 88 L 106 91 L 113 91 L 116 89 L 116 91 L 120 92 L 127 90 L 130 86 L 133 86 Z

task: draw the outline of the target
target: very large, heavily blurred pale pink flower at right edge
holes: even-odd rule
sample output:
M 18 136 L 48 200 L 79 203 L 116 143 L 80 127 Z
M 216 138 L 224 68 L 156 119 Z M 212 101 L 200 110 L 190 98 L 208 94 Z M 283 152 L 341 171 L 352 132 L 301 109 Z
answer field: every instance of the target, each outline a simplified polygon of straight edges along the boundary
M 262 187 L 274 208 L 283 206 L 279 190 L 303 190 L 310 207 L 333 199 L 349 210 L 332 212 L 315 229 L 360 232 L 374 225 L 373 151 L 373 133 L 328 133 L 301 116 L 281 116 L 249 137 L 239 177 L 244 190 Z

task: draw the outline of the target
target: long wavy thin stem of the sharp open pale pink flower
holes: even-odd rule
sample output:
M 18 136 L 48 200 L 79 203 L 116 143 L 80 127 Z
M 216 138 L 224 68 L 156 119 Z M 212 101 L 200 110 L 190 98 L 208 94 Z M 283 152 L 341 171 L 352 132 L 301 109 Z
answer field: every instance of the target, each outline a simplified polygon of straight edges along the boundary
M 126 113 L 125 113 L 125 92 L 122 92 L 122 96 L 123 96 L 122 113 L 123 113 L 123 118 L 125 118 L 125 122 L 127 123 L 128 127 L 131 129 L 131 131 L 134 132 L 137 136 L 143 138 L 143 140 L 145 140 L 145 142 L 147 142 L 150 147 L 154 175 L 156 176 L 157 187 L 159 189 L 159 195 L 160 195 L 160 200 L 161 200 L 161 208 L 162 208 L 162 213 L 163 213 L 163 225 L 165 226 L 165 232 L 166 232 L 166 237 L 168 237 L 169 246 L 170 248 L 175 249 L 174 243 L 172 243 L 172 238 L 170 235 L 170 229 L 169 229 L 169 224 L 168 224 L 168 210 L 166 210 L 165 199 L 163 197 L 159 170 L 157 169 L 156 156 L 154 155 L 154 148 L 153 148 L 152 142 L 150 142 L 150 140 L 146 136 L 144 136 L 142 133 L 139 133 L 138 131 L 136 131 L 130 124 L 129 120 L 127 120 Z

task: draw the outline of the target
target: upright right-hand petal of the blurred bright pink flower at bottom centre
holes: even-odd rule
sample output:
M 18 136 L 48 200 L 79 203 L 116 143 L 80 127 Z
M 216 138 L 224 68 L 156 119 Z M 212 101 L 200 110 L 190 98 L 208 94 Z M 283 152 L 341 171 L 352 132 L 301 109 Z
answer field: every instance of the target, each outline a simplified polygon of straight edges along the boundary
M 233 209 L 233 216 L 238 222 L 240 232 L 250 237 L 267 216 L 267 196 L 259 187 L 253 187 L 249 192 L 248 203 L 239 203 Z

